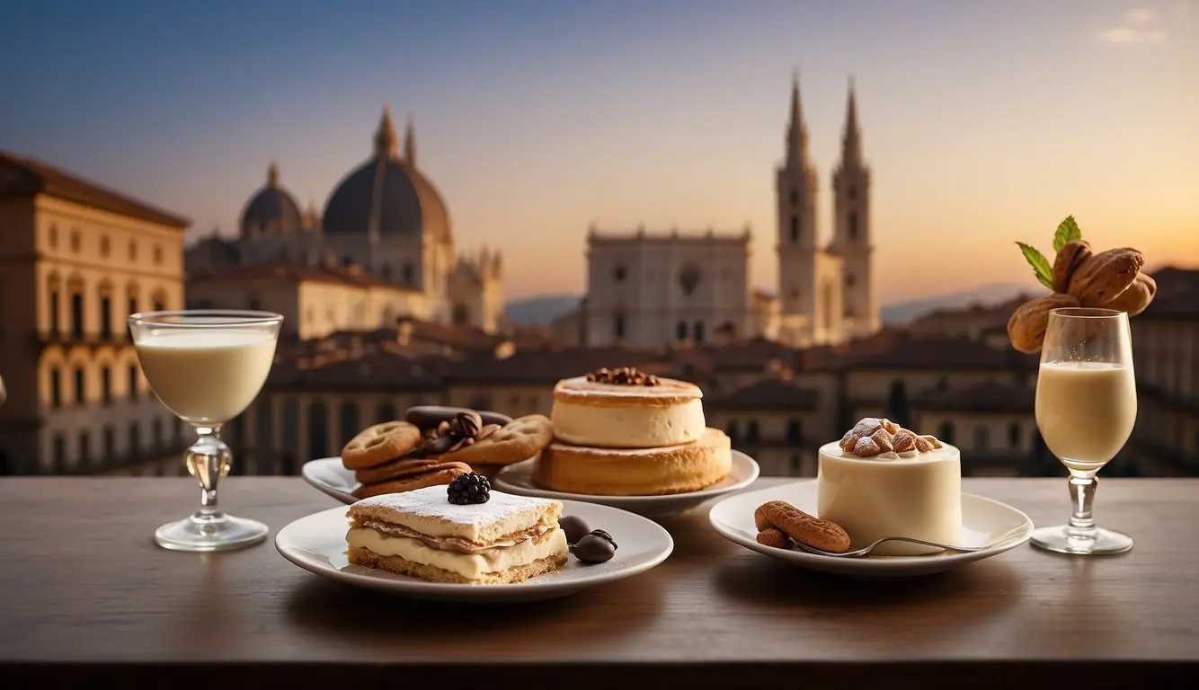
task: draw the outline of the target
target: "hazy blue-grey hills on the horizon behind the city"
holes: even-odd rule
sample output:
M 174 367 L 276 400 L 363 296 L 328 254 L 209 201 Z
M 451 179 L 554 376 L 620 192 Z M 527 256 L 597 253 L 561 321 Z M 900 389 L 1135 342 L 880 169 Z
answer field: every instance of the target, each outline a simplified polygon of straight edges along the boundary
M 1016 297 L 1020 292 L 1035 292 L 1036 285 L 1026 283 L 992 283 L 959 292 L 947 292 L 935 297 L 896 302 L 882 307 L 882 323 L 905 323 L 934 309 L 956 309 L 975 302 L 994 304 Z M 520 326 L 549 326 L 554 319 L 577 308 L 579 296 L 570 293 L 536 295 L 524 299 L 512 299 L 505 304 L 508 320 Z

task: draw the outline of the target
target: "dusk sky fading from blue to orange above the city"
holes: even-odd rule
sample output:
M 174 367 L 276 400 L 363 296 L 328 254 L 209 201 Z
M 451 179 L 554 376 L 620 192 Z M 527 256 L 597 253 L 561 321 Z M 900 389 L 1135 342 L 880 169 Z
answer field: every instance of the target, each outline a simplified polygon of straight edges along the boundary
M 459 250 L 508 297 L 583 289 L 586 229 L 754 229 L 793 68 L 819 170 L 846 83 L 873 169 L 882 301 L 1028 280 L 1074 214 L 1097 248 L 1199 266 L 1199 2 L 0 0 L 0 149 L 233 234 L 277 161 L 319 207 L 385 102 Z

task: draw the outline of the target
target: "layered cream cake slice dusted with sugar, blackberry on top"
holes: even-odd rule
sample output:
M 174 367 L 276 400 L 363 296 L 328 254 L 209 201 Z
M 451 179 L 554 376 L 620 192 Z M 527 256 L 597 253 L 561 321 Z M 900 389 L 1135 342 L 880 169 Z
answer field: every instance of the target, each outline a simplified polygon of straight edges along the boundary
M 448 490 L 427 486 L 350 506 L 350 563 L 464 585 L 520 582 L 566 564 L 561 502 L 493 491 L 471 477 Z

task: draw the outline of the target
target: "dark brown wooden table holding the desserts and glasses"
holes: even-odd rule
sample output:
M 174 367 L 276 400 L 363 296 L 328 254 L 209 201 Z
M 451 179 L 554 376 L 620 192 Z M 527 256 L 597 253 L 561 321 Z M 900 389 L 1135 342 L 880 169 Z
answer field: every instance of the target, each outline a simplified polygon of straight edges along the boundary
M 1061 479 L 965 484 L 1037 523 L 1067 516 Z M 1199 479 L 1105 480 L 1097 518 L 1132 552 L 1025 546 L 906 582 L 787 568 L 722 539 L 704 508 L 663 521 L 675 551 L 650 573 L 476 607 L 327 581 L 271 543 L 159 550 L 153 528 L 197 500 L 189 479 L 4 479 L 0 686 L 1152 688 L 1199 677 L 1197 496 Z M 272 538 L 337 504 L 295 478 L 233 478 L 222 500 Z

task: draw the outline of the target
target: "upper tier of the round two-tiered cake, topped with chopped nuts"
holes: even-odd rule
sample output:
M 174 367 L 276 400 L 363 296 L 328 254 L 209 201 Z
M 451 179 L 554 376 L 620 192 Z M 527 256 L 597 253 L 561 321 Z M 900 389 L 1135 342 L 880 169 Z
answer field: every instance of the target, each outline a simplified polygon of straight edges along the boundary
M 698 386 L 628 371 L 601 369 L 559 381 L 550 412 L 554 436 L 592 448 L 662 448 L 704 435 Z

